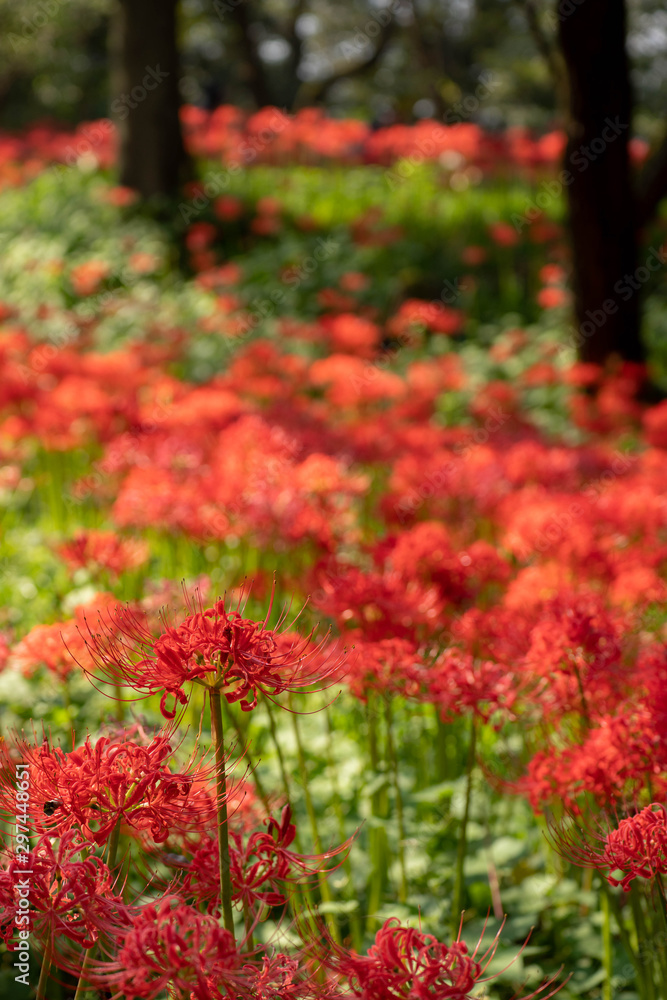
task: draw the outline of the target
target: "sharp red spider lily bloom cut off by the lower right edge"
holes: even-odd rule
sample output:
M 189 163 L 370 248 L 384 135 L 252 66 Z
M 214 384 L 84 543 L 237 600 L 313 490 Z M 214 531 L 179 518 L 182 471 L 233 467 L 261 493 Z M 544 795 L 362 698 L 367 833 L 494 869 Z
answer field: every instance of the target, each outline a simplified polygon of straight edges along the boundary
M 602 845 L 597 849 L 580 833 L 576 827 L 556 831 L 558 849 L 575 864 L 608 870 L 605 877 L 609 885 L 620 885 L 629 892 L 636 878 L 654 879 L 667 874 L 667 808 L 662 803 L 652 802 L 634 816 L 620 820 L 606 836 L 596 834 Z M 618 879 L 611 874 L 613 871 L 625 874 Z

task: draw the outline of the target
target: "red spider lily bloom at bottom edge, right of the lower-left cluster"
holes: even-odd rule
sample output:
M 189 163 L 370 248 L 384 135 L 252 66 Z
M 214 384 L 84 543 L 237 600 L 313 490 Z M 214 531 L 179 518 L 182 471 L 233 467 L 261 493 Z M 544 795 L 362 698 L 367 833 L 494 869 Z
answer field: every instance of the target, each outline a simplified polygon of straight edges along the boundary
M 336 948 L 336 971 L 348 979 L 352 996 L 362 1000 L 428 1000 L 431 997 L 467 1000 L 475 987 L 496 978 L 484 973 L 496 953 L 501 931 L 502 927 L 486 951 L 479 954 L 482 934 L 471 954 L 465 941 L 460 939 L 460 930 L 456 941 L 446 945 L 432 934 L 402 927 L 394 917 L 377 932 L 368 955 Z M 545 982 L 529 997 L 542 993 L 553 982 L 554 979 Z M 544 1000 L 555 992 L 552 990 Z

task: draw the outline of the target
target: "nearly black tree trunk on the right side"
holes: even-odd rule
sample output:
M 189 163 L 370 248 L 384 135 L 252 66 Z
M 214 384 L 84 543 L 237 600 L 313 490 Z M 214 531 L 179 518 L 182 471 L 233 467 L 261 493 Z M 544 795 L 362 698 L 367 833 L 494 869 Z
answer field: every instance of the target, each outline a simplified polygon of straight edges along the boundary
M 558 17 L 569 77 L 564 170 L 580 357 L 643 361 L 624 0 L 560 0 Z

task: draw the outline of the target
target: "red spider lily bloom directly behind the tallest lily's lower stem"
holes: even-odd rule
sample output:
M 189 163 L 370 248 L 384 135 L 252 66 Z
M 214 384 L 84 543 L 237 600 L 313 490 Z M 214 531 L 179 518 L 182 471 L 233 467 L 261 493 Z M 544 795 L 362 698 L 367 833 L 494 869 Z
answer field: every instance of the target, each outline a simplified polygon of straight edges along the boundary
M 286 883 L 297 882 L 318 872 L 330 872 L 324 865 L 349 847 L 349 842 L 325 854 L 297 854 L 290 850 L 296 836 L 289 806 L 282 810 L 280 820 L 269 817 L 266 830 L 244 833 L 229 831 L 229 854 L 232 878 L 232 900 L 243 904 L 244 910 L 259 914 L 264 906 L 283 906 L 288 901 Z M 212 837 L 199 842 L 192 860 L 180 865 L 186 872 L 182 893 L 206 903 L 209 910 L 217 907 L 220 878 Z M 334 868 L 337 866 L 334 866 Z

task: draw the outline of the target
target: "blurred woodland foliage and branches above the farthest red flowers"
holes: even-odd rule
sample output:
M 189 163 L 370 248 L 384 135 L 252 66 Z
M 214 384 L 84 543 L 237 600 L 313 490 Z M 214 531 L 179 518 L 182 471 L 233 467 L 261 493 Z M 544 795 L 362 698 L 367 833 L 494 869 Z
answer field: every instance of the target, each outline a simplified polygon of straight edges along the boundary
M 128 5 L 129 16 L 145 6 Z M 120 9 L 118 0 L 2 0 L 2 127 L 109 115 Z M 627 14 L 635 127 L 657 138 L 667 10 L 631 0 Z M 562 117 L 558 16 L 544 0 L 181 0 L 176 16 L 180 97 L 203 108 L 323 104 L 336 116 L 413 122 L 455 114 L 486 71 L 496 87 L 474 116 L 480 125 L 547 129 Z

